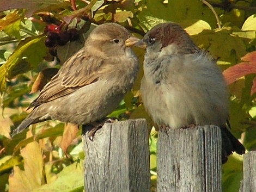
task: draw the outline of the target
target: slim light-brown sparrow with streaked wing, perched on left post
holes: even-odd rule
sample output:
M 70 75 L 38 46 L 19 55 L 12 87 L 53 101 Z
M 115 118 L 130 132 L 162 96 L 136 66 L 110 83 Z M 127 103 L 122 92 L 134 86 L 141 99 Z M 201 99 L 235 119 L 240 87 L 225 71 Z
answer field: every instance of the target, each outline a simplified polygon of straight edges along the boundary
M 45 120 L 86 125 L 111 113 L 135 82 L 139 66 L 131 46 L 138 40 L 116 23 L 96 27 L 44 86 L 12 136 Z

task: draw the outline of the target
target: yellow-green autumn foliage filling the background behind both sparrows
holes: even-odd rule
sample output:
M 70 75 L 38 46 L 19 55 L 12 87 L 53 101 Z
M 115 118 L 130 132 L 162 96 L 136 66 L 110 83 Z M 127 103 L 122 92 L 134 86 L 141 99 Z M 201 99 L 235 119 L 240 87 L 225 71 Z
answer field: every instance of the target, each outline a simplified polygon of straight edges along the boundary
M 248 151 L 255 150 L 256 1 L 2 0 L 0 11 L 0 191 L 83 191 L 84 156 L 76 125 L 47 121 L 13 139 L 9 133 L 27 116 L 26 108 L 51 73 L 83 46 L 95 24 L 105 22 L 120 23 L 139 37 L 157 23 L 180 23 L 224 70 L 230 90 L 231 131 Z M 55 60 L 44 45 L 44 29 L 53 22 L 81 33 L 77 41 L 56 47 Z M 143 50 L 135 48 L 135 52 L 142 64 Z M 141 102 L 142 76 L 141 66 L 132 91 L 109 116 L 149 121 L 155 191 L 157 132 L 151 129 L 153 122 Z M 223 165 L 223 192 L 239 191 L 241 179 L 242 157 L 234 154 Z

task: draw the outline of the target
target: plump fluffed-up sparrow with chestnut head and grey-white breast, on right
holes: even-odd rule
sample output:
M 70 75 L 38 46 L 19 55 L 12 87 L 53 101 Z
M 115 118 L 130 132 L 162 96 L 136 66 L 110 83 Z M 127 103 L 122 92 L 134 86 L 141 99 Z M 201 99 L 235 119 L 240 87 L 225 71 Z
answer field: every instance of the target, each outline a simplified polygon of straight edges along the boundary
M 179 129 L 216 125 L 222 131 L 222 162 L 243 145 L 225 126 L 228 94 L 221 71 L 208 53 L 200 50 L 176 23 L 155 26 L 137 43 L 146 46 L 142 101 L 153 121 Z

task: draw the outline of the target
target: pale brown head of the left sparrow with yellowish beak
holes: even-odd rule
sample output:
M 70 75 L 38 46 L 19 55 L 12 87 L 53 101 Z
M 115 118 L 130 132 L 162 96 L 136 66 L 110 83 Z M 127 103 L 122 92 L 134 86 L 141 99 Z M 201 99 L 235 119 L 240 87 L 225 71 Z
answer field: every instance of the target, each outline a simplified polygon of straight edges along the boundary
M 123 26 L 117 23 L 105 23 L 90 33 L 86 46 L 88 49 L 97 49 L 106 56 L 118 56 L 124 55 L 138 41 L 139 39 L 131 36 Z

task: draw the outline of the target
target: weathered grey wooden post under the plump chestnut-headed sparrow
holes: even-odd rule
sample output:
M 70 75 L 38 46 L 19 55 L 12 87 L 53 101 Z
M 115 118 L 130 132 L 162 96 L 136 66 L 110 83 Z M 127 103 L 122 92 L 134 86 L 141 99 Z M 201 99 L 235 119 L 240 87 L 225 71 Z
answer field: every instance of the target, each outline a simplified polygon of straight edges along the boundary
M 157 192 L 220 192 L 221 131 L 216 126 L 160 131 Z

